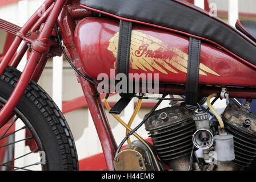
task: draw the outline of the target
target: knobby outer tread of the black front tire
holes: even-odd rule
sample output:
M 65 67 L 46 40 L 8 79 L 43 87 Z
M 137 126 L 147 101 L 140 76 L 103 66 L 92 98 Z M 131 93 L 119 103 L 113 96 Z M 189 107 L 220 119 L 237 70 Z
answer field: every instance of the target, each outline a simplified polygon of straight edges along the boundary
M 20 75 L 21 72 L 8 66 L 1 76 L 1 80 L 14 87 L 17 84 Z M 57 105 L 45 90 L 33 80 L 29 82 L 24 96 L 29 98 L 34 106 L 37 107 L 37 110 L 42 113 L 45 117 L 45 122 L 49 123 L 52 132 L 55 134 L 62 156 L 63 169 L 78 170 L 78 156 L 74 138 L 67 125 L 65 117 L 58 109 Z

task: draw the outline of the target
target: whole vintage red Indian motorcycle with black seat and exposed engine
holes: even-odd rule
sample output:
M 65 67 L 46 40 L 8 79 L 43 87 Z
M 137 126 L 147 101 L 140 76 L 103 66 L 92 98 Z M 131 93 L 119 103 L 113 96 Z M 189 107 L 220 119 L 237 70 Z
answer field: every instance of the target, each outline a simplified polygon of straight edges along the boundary
M 39 16 L 42 10 L 46 11 Z M 18 132 L 9 129 L 21 119 L 26 126 L 23 140 L 31 152 L 44 151 L 46 156 L 45 163 L 30 166 L 78 169 L 69 126 L 37 84 L 47 60 L 63 52 L 81 83 L 108 170 L 255 169 L 256 114 L 249 112 L 250 102 L 256 98 L 253 20 L 238 20 L 235 29 L 182 0 L 46 0 L 22 28 L 2 19 L 0 28 L 15 35 L 0 64 L 0 127 L 4 129 L 0 141 Z M 25 43 L 16 52 L 22 40 Z M 30 55 L 21 73 L 16 68 L 26 51 Z M 117 92 L 118 81 L 114 86 L 102 85 L 98 79 L 101 73 L 110 80 L 122 74 L 132 86 L 137 82 L 146 82 L 146 86 L 135 87 L 136 92 L 118 92 L 121 99 L 110 108 L 107 98 Z M 151 82 L 157 81 L 161 98 L 146 96 L 150 81 L 141 79 L 142 74 L 146 80 L 158 76 L 151 77 Z M 99 90 L 107 92 L 106 108 L 127 129 L 119 146 Z M 134 97 L 138 105 L 125 123 L 118 114 Z M 213 107 L 218 98 L 233 101 L 222 117 Z M 246 98 L 246 103 L 240 104 L 235 98 Z M 159 101 L 131 129 L 143 99 Z M 163 100 L 169 100 L 171 106 L 156 110 Z M 205 102 L 207 109 L 202 106 Z M 216 121 L 210 120 L 210 111 Z M 151 143 L 136 133 L 142 125 L 149 131 Z M 131 142 L 132 134 L 138 140 Z M 129 144 L 121 150 L 126 140 Z M 19 141 L 2 142 L 1 148 L 15 142 Z M 0 166 L 14 170 L 29 167 L 14 166 L 14 160 L 2 160 Z

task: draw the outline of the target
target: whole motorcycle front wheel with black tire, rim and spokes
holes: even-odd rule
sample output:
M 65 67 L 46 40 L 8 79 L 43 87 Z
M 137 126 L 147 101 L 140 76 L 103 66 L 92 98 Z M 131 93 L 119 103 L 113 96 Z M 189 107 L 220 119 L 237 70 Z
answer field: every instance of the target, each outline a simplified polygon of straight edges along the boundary
M 20 75 L 17 69 L 7 67 L 1 76 L 0 109 Z M 23 138 L 18 138 L 22 132 Z M 26 150 L 19 151 L 19 144 L 25 145 Z M 30 81 L 8 122 L 0 129 L 0 170 L 31 169 L 78 170 L 69 126 L 54 101 L 34 81 Z

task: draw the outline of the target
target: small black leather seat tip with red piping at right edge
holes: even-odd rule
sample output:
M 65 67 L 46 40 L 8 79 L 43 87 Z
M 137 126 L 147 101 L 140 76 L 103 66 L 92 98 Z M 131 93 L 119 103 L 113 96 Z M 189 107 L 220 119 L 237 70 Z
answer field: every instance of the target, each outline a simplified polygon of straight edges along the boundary
M 256 20 L 238 20 L 235 27 L 256 42 Z

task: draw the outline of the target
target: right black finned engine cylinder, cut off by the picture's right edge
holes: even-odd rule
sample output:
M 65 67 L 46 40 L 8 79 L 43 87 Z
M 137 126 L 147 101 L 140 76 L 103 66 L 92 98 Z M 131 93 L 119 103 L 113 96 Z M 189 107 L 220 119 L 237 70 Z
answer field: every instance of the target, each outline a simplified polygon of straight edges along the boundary
M 247 109 L 228 105 L 222 114 L 225 130 L 234 135 L 233 163 L 252 167 L 256 160 L 256 114 Z

